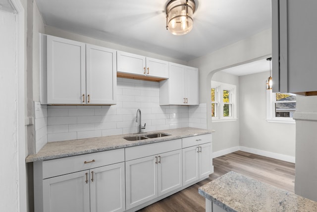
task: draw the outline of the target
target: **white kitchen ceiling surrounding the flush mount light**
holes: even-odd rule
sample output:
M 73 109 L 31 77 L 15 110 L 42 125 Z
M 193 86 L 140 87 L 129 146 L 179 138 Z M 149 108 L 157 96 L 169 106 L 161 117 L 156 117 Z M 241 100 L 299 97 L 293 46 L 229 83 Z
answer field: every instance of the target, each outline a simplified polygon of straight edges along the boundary
M 36 0 L 46 25 L 189 61 L 270 28 L 271 0 L 195 0 L 193 30 L 165 28 L 167 0 Z

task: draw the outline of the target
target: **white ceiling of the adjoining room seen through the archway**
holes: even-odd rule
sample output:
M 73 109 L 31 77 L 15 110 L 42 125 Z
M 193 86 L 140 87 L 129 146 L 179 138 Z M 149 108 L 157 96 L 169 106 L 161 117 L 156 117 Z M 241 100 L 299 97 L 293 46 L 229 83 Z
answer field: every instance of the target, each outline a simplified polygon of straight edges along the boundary
M 229 69 L 222 70 L 227 73 L 231 73 L 237 76 L 243 76 L 251 73 L 260 73 L 263 71 L 269 71 L 269 62 L 266 59 L 254 61 L 252 63 L 235 66 Z

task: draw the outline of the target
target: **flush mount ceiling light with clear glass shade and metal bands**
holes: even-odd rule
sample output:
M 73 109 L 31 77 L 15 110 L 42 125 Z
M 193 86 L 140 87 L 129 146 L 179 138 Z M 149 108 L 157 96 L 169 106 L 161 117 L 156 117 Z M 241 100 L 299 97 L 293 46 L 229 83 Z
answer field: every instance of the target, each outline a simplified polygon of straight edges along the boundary
M 194 0 L 171 0 L 166 5 L 166 29 L 173 35 L 185 35 L 193 28 Z

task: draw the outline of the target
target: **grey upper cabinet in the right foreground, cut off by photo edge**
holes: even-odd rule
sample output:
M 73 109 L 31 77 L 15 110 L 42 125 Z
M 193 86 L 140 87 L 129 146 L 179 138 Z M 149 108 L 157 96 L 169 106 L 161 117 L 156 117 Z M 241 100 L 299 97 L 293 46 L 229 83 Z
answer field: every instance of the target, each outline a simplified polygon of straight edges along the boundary
M 272 0 L 273 92 L 317 95 L 316 8 L 316 0 Z

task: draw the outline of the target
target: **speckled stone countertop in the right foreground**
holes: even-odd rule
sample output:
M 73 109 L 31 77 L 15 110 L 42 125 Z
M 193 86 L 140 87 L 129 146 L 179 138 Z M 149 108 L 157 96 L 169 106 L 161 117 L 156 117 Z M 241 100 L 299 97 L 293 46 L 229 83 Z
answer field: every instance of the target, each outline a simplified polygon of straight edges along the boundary
M 317 202 L 230 171 L 199 188 L 227 212 L 317 212 Z

